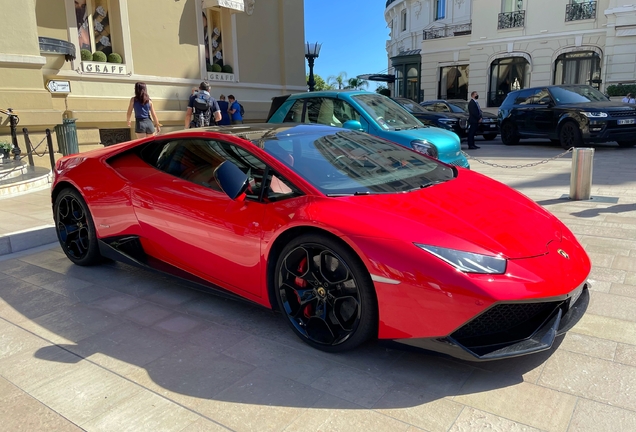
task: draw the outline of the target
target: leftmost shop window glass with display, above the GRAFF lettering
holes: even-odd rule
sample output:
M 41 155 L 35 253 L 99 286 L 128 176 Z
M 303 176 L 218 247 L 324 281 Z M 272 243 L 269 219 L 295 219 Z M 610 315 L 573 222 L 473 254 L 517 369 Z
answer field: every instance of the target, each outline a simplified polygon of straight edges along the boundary
M 113 52 L 109 0 L 75 0 L 75 17 L 80 49 Z

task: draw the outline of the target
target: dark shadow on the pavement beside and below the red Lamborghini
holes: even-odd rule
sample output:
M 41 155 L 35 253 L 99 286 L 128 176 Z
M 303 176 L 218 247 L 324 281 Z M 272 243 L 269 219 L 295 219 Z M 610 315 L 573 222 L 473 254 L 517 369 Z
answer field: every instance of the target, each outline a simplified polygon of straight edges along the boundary
M 44 374 L 50 362 L 67 363 L 55 368 L 64 375 L 83 365 L 199 411 L 218 402 L 413 407 L 534 383 L 561 342 L 483 363 L 378 342 L 329 354 L 300 341 L 278 313 L 119 263 L 78 267 L 57 249 L 0 262 L 3 274 L 0 298 L 14 312 L 0 307 L 0 317 L 26 330 L 24 337 L 37 336 L 39 348 L 28 356 L 40 361 L 33 373 Z M 9 380 L 11 359 L 0 352 Z

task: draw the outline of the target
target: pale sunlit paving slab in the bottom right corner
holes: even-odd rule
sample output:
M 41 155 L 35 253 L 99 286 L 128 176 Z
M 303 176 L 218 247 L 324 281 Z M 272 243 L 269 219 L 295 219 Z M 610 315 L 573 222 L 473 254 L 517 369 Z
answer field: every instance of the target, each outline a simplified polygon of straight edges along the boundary
M 623 432 L 636 430 L 636 412 L 579 399 L 570 421 L 572 432 Z

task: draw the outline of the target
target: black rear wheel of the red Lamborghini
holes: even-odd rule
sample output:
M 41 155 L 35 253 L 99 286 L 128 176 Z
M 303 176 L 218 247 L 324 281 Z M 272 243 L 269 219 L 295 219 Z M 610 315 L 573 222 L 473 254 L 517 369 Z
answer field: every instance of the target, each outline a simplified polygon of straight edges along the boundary
M 81 266 L 101 262 L 93 218 L 79 192 L 62 190 L 55 199 L 53 217 L 57 238 L 68 259 Z

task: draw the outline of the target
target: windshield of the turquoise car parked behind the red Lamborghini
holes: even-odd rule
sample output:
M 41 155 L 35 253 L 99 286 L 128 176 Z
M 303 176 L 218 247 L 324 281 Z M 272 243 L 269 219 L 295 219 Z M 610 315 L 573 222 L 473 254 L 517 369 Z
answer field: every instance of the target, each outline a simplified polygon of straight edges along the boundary
M 351 96 L 384 130 L 404 130 L 425 127 L 397 102 L 378 94 Z

